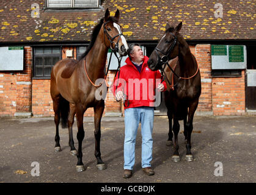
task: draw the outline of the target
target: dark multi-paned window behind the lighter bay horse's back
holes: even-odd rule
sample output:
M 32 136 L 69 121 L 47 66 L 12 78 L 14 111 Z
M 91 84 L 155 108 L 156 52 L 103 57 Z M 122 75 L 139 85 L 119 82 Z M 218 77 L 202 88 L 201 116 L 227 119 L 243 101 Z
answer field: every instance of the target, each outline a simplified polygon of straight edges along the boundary
M 51 68 L 60 59 L 60 47 L 34 48 L 33 77 L 35 79 L 49 79 L 51 77 Z

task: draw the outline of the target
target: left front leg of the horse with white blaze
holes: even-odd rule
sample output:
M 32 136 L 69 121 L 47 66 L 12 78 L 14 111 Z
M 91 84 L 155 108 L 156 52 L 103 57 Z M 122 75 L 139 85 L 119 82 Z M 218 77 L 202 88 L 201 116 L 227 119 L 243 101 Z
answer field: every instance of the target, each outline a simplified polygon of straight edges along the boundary
M 78 133 L 76 138 L 78 138 L 78 163 L 76 164 L 76 171 L 81 172 L 84 171 L 86 168 L 84 167 L 84 163 L 82 163 L 82 140 L 84 140 L 84 126 L 83 126 L 83 119 L 84 119 L 84 108 L 80 105 L 76 105 L 76 120 L 78 123 Z

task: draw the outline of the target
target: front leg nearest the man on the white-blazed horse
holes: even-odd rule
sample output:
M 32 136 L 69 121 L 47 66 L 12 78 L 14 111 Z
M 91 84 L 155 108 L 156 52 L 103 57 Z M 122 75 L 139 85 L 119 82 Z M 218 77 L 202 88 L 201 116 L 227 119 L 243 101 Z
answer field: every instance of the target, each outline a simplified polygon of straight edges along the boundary
M 101 160 L 101 153 L 100 153 L 100 138 L 101 138 L 101 131 L 100 131 L 100 124 L 101 124 L 101 117 L 104 111 L 104 101 L 99 102 L 94 109 L 94 137 L 95 137 L 95 157 L 97 158 L 97 168 L 99 170 L 106 169 L 106 165 Z

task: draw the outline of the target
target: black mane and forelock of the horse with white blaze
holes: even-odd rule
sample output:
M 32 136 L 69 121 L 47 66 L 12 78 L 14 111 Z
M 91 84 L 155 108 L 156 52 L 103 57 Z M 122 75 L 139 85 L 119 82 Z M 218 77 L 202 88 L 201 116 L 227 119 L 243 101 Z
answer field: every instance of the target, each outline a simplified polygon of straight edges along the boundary
M 114 23 L 117 23 L 117 19 L 115 19 L 114 17 L 109 17 L 108 21 L 112 21 Z M 96 38 L 98 37 L 98 34 L 100 32 L 101 26 L 104 23 L 104 18 L 100 19 L 100 23 L 98 23 L 92 30 L 92 35 L 90 38 L 90 44 L 88 46 L 88 48 L 86 49 L 86 52 L 84 52 L 84 54 L 81 55 L 81 57 L 79 58 L 79 60 L 81 60 L 82 58 L 86 57 L 86 55 L 89 53 L 90 49 L 92 49 L 93 44 L 96 41 Z

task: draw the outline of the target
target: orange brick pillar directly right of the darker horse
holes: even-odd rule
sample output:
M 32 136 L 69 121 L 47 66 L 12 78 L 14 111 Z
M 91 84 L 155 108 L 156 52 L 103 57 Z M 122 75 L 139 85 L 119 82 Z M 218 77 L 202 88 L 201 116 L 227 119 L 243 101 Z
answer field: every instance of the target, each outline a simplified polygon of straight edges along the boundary
M 211 79 L 211 45 L 196 45 L 196 60 L 200 68 L 202 93 L 199 99 L 197 114 L 213 115 L 212 79 Z

